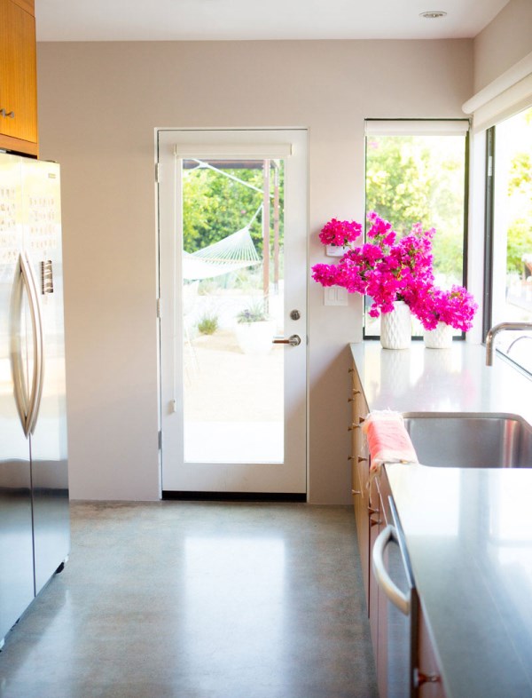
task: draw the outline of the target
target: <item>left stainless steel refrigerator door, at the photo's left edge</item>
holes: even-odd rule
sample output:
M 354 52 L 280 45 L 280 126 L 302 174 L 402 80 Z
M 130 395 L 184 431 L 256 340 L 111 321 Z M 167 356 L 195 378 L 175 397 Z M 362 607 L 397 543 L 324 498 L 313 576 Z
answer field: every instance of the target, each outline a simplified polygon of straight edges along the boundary
M 20 158 L 0 155 L 0 642 L 34 598 L 29 442 L 12 373 L 12 296 L 22 230 Z M 17 331 L 26 337 L 22 308 Z M 27 366 L 27 356 L 21 365 Z M 27 374 L 24 379 L 27 381 Z M 19 401 L 21 396 L 19 395 Z

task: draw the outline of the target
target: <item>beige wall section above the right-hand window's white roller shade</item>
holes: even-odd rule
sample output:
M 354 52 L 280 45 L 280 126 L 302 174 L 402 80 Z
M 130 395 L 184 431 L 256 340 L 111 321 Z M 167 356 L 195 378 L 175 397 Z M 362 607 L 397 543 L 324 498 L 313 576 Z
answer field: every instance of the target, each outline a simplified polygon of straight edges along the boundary
M 532 52 L 532 2 L 510 0 L 475 37 L 474 92 Z

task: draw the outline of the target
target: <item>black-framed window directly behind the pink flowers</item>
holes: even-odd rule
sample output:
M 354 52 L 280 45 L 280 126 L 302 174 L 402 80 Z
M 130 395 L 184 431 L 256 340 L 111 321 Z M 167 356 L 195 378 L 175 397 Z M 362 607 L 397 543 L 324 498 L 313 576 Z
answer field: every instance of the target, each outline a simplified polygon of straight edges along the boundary
M 434 227 L 435 282 L 444 289 L 465 285 L 468 128 L 467 120 L 366 121 L 366 213 L 375 210 L 398 234 L 418 222 Z M 378 337 L 379 319 L 364 316 L 364 337 Z

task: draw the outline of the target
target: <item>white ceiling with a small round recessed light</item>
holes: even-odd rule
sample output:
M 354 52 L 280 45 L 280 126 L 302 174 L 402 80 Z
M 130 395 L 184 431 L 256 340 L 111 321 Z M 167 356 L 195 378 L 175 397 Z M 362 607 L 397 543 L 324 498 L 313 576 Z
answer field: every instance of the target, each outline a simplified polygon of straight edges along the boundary
M 37 41 L 476 36 L 508 0 L 35 0 Z M 442 10 L 426 20 L 420 12 Z

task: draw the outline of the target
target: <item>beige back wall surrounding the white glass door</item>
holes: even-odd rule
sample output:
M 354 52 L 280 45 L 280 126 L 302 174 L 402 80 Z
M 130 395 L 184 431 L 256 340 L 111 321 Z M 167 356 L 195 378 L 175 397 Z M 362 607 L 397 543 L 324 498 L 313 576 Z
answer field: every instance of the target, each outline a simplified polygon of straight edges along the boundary
M 317 232 L 364 210 L 364 117 L 462 117 L 473 42 L 39 44 L 42 157 L 62 163 L 71 495 L 156 499 L 153 132 L 309 128 Z M 350 501 L 348 342 L 360 299 L 309 285 L 309 493 Z M 393 406 L 390 406 L 393 407 Z

